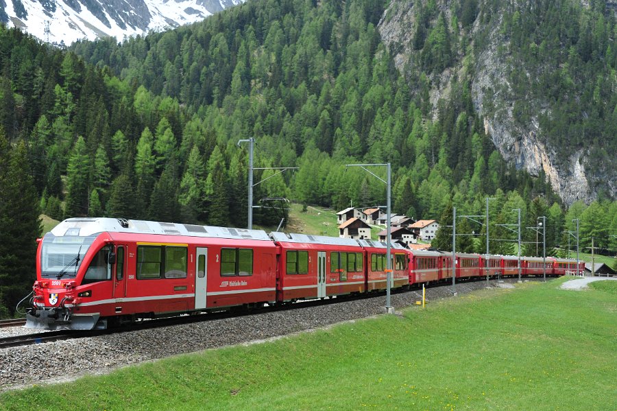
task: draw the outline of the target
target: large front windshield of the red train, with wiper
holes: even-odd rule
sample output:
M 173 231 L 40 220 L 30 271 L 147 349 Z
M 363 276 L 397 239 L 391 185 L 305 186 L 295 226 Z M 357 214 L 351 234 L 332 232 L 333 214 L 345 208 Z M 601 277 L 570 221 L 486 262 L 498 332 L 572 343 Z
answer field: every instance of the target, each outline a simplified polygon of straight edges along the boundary
M 96 237 L 96 235 L 90 237 L 45 235 L 40 254 L 41 277 L 75 278 L 84 255 Z

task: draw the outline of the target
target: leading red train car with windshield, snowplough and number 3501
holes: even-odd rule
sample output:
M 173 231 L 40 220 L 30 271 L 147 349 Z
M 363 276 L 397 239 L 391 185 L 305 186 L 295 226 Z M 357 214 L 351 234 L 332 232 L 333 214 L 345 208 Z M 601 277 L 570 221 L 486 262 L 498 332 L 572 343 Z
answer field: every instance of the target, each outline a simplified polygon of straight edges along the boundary
M 71 218 L 39 242 L 27 326 L 105 328 L 275 301 L 276 245 L 265 231 Z

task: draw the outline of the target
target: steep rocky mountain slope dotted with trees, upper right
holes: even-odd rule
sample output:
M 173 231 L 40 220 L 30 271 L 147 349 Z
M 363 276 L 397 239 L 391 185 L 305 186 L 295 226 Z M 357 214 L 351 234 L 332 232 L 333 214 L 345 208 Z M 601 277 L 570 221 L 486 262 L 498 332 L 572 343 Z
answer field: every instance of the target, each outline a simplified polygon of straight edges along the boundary
M 398 69 L 428 79 L 433 113 L 469 82 L 503 157 L 572 204 L 617 196 L 616 10 L 614 0 L 399 0 L 379 28 Z

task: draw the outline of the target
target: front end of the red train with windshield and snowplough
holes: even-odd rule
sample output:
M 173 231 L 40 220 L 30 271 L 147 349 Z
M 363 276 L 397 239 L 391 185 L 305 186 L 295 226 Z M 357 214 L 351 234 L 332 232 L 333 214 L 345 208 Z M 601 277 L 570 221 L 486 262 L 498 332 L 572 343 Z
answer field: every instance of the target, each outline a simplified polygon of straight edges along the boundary
M 93 281 L 110 277 L 113 253 L 97 219 L 64 220 L 38 244 L 32 307 L 26 327 L 36 329 L 100 328 L 99 312 L 82 306 L 91 301 Z M 93 280 L 94 278 L 94 280 Z M 97 323 L 99 323 L 97 325 Z

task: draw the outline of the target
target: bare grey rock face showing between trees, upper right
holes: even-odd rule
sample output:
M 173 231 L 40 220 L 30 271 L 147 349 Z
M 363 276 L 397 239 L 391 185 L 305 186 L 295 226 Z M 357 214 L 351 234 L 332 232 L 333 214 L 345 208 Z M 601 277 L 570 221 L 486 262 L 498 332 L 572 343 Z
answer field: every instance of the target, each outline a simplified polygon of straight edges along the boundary
M 413 59 L 419 58 L 418 51 L 412 47 L 413 32 L 415 29 L 415 8 L 422 0 L 392 1 L 385 11 L 378 29 L 386 45 L 393 51 L 396 67 L 405 74 L 405 69 Z M 445 14 L 449 14 L 450 0 L 437 1 L 437 7 Z M 617 0 L 607 1 L 607 8 L 617 10 Z M 479 29 L 476 19 L 472 32 Z M 515 103 L 514 93 L 507 82 L 509 67 L 498 57 L 498 36 L 495 27 L 492 41 L 480 52 L 472 56 L 474 60 L 472 82 L 472 100 L 474 108 L 484 119 L 485 131 L 491 136 L 495 147 L 506 161 L 514 163 L 518 169 L 526 169 L 532 176 L 538 176 L 544 170 L 553 189 L 566 204 L 576 200 L 591 202 L 597 193 L 590 187 L 590 176 L 585 173 L 585 163 L 590 161 L 588 152 L 580 150 L 573 152 L 567 161 L 561 158 L 558 161 L 554 148 L 546 145 L 541 135 L 537 115 L 534 113 L 528 124 L 521 126 L 513 117 Z M 450 78 L 455 73 L 463 78 L 467 68 L 465 58 L 455 65 L 434 75 L 431 103 L 437 107 L 440 98 L 448 97 Z M 410 85 L 413 90 L 413 84 Z M 542 102 L 540 102 L 542 106 Z M 498 107 L 495 109 L 495 107 Z M 436 112 L 436 110 L 434 111 Z M 547 113 L 544 110 L 544 113 Z M 612 174 L 612 175 L 610 175 Z M 615 170 L 609 170 L 609 191 L 617 196 Z

